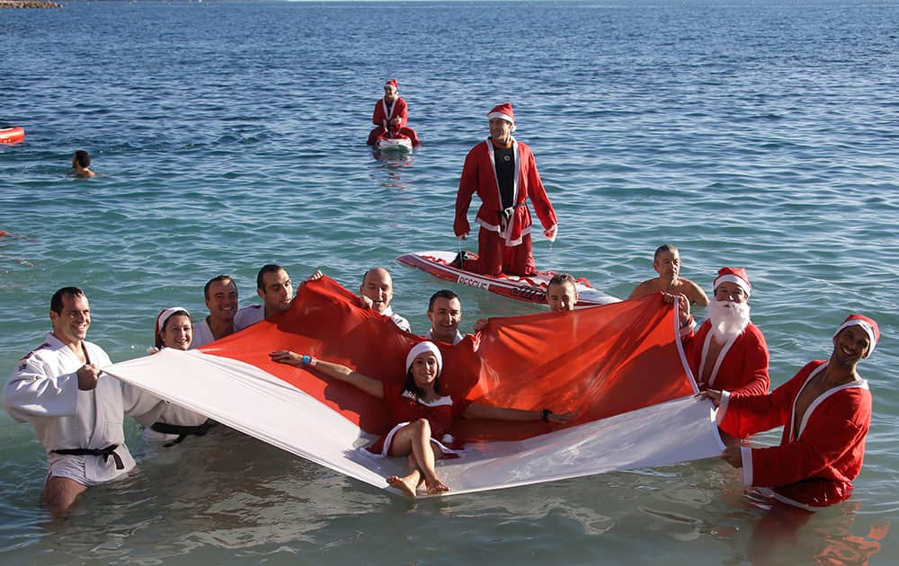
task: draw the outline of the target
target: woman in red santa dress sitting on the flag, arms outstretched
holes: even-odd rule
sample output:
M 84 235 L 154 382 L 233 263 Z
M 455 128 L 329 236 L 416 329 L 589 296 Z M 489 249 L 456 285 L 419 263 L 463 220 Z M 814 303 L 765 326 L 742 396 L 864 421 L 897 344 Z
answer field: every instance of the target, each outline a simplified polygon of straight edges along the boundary
M 430 495 L 449 491 L 449 487 L 437 475 L 434 464 L 443 457 L 458 455 L 460 452 L 455 447 L 455 439 L 449 435 L 449 429 L 455 420 L 545 420 L 563 423 L 574 416 L 572 413 L 556 414 L 548 409 L 503 409 L 441 394 L 443 357 L 437 345 L 428 340 L 409 349 L 405 358 L 406 376 L 403 386 L 364 376 L 341 364 L 299 356 L 288 350 L 271 352 L 271 358 L 345 381 L 387 402 L 391 429 L 366 450 L 373 457 L 408 457 L 409 473 L 405 476 L 391 475 L 387 477 L 387 483 L 409 497 L 415 497 L 422 482 Z

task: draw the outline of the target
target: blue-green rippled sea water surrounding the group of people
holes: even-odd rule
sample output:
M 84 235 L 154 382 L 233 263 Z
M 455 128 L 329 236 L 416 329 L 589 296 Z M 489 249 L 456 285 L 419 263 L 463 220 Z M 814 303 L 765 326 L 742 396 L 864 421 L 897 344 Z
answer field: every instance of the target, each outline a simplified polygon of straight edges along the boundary
M 627 296 L 660 243 L 706 288 L 744 265 L 778 385 L 849 312 L 883 332 L 855 494 L 787 536 L 718 460 L 413 502 L 233 432 L 145 447 L 133 422 L 142 473 L 50 521 L 45 455 L 3 412 L 0 562 L 899 562 L 897 0 L 75 2 L 0 11 L 0 60 L 0 127 L 27 130 L 0 146 L 3 379 L 58 287 L 85 287 L 120 361 L 160 308 L 204 315 L 218 273 L 254 302 L 270 261 L 352 289 L 386 265 L 425 332 L 443 284 L 394 259 L 457 249 L 462 161 L 505 101 L 559 216 L 540 268 Z M 424 142 L 398 161 L 364 144 L 390 77 Z M 67 176 L 77 148 L 102 176 Z M 454 288 L 466 330 L 538 310 Z

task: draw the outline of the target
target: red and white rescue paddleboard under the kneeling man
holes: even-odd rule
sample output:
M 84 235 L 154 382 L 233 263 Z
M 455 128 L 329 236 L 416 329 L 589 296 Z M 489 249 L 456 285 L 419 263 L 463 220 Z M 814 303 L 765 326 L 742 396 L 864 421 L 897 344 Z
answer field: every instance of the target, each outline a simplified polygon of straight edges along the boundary
M 477 257 L 469 252 L 469 258 Z M 434 277 L 452 281 L 459 285 L 476 287 L 513 298 L 527 303 L 547 303 L 547 285 L 555 273 L 553 271 L 539 271 L 535 275 L 518 277 L 516 275 L 482 275 L 471 271 L 460 270 L 449 265 L 456 259 L 456 252 L 413 252 L 405 253 L 396 258 L 396 261 L 409 267 L 418 268 Z M 577 289 L 577 306 L 595 306 L 617 303 L 619 299 L 603 293 L 599 289 L 590 287 L 586 279 L 578 279 L 574 287 Z

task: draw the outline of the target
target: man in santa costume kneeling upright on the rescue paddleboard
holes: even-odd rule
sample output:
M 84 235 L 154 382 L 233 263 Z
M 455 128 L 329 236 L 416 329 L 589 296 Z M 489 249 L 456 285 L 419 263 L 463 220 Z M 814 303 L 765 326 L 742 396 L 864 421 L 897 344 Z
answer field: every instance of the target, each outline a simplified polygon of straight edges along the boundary
M 515 114 L 512 104 L 500 104 L 487 114 L 490 137 L 472 147 L 465 158 L 456 195 L 453 230 L 459 239 L 471 231 L 468 205 L 475 193 L 481 198 L 476 224 L 476 260 L 463 254 L 454 261 L 458 267 L 485 275 L 531 275 L 537 272 L 530 240 L 530 201 L 537 211 L 543 234 L 556 241 L 556 211 L 543 188 L 530 147 L 514 137 Z

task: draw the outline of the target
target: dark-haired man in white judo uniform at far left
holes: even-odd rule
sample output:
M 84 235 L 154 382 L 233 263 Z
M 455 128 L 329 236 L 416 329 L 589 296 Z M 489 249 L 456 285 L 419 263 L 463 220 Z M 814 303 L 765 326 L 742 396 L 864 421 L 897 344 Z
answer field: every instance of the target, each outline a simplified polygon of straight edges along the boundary
M 112 362 L 85 340 L 91 310 L 83 290 L 59 289 L 49 316 L 53 330 L 19 361 L 3 401 L 13 419 L 34 427 L 47 450 L 43 501 L 59 516 L 88 487 L 134 468 L 122 420 L 159 411 L 163 402 L 102 374 Z

